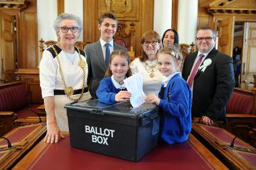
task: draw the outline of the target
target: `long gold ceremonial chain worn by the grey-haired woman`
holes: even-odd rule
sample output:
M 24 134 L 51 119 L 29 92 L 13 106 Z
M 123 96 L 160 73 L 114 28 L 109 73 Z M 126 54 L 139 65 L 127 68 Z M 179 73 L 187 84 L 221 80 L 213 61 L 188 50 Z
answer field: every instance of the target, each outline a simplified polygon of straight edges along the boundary
M 74 93 L 74 90 L 73 90 L 73 87 L 71 86 L 67 86 L 66 83 L 65 83 L 65 79 L 64 79 L 64 75 L 63 75 L 63 72 L 62 72 L 62 69 L 61 69 L 61 62 L 59 60 L 59 54 L 57 53 L 57 50 L 54 48 L 54 46 L 52 45 L 51 48 L 53 48 L 53 50 L 55 51 L 55 54 L 57 56 L 57 61 L 59 63 L 59 72 L 61 73 L 61 79 L 62 79 L 62 83 L 64 85 L 64 91 L 65 91 L 65 95 L 67 97 L 69 97 L 69 99 L 73 100 L 73 101 L 78 101 L 79 99 L 81 99 L 82 95 L 84 94 L 84 81 L 86 81 L 86 71 L 84 69 L 84 67 L 86 67 L 86 62 L 84 60 L 82 60 L 82 57 L 81 57 L 81 54 L 80 54 L 80 51 L 79 49 L 75 46 L 75 48 L 77 49 L 78 53 L 79 53 L 79 62 L 78 62 L 78 66 L 81 67 L 81 69 L 83 70 L 83 78 L 82 78 L 82 92 L 81 94 L 79 95 L 79 97 L 77 98 L 73 98 L 71 97 L 71 95 L 73 95 Z

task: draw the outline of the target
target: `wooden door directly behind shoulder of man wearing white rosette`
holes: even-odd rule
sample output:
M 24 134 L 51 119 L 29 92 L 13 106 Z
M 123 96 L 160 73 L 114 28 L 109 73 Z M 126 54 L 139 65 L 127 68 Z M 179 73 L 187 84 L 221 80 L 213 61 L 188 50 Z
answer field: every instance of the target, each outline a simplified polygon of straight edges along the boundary
M 232 56 L 234 40 L 234 16 L 219 22 L 218 50 Z

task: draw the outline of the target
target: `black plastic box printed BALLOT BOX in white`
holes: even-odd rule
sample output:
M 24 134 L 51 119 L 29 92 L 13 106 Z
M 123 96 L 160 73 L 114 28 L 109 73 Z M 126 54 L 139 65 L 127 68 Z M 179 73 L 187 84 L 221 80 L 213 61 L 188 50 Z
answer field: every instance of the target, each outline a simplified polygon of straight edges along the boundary
M 98 99 L 65 105 L 71 146 L 138 161 L 158 144 L 158 107 L 129 101 L 108 105 Z

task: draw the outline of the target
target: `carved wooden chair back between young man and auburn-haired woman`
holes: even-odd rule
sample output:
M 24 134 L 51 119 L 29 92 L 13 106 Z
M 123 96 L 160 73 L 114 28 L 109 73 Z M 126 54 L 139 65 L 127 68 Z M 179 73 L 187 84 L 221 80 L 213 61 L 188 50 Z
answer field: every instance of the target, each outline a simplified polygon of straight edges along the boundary
M 131 22 L 129 25 L 129 33 L 127 34 L 125 32 L 127 25 L 123 21 L 119 22 L 117 32 L 114 36 L 114 41 L 120 46 L 127 48 L 130 59 L 133 60 L 135 58 L 135 52 L 133 51 L 133 47 L 135 46 L 135 24 Z

